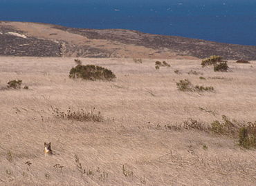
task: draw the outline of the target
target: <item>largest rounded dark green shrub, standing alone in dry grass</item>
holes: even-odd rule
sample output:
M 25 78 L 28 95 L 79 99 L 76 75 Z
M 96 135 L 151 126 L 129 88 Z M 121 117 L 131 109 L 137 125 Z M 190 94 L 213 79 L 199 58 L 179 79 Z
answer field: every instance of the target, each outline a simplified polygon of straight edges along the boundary
M 69 72 L 69 77 L 73 79 L 81 78 L 85 80 L 104 80 L 111 81 L 116 78 L 116 75 L 108 70 L 95 65 L 77 65 Z

